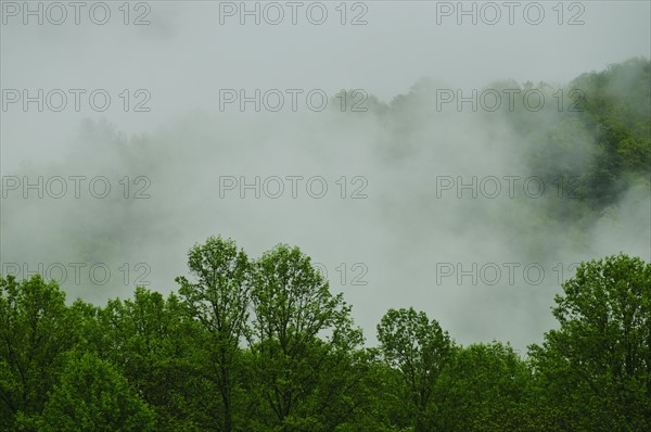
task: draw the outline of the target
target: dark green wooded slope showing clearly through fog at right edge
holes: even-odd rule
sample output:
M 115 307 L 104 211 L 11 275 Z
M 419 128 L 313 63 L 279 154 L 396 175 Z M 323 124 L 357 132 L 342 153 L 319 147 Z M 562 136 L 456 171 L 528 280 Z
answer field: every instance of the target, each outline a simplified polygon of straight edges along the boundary
M 572 179 L 574 185 L 569 182 L 565 190 L 578 200 L 570 213 L 560 215 L 567 217 L 582 211 L 579 202 L 602 209 L 633 182 L 649 181 L 651 62 L 631 59 L 583 74 L 563 91 L 572 106 L 556 113 L 547 125 L 520 127 L 538 134 L 529 160 L 532 171 L 548 183 L 563 176 Z

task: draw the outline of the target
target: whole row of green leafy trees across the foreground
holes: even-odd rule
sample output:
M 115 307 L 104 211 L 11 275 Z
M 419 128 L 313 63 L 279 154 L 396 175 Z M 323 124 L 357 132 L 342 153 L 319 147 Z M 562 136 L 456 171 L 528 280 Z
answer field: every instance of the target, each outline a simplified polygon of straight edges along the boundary
M 521 358 L 460 346 L 390 309 L 365 347 L 342 294 L 297 247 L 190 250 L 167 297 L 66 305 L 39 276 L 0 279 L 0 421 L 16 431 L 646 431 L 651 264 L 582 263 L 559 328 Z

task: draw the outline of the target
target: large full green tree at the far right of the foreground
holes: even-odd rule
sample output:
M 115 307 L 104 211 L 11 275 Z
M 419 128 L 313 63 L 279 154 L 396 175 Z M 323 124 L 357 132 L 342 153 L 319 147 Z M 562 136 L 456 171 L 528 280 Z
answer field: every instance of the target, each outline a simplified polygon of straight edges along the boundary
M 557 295 L 560 329 L 531 356 L 554 430 L 651 429 L 651 265 L 582 263 Z

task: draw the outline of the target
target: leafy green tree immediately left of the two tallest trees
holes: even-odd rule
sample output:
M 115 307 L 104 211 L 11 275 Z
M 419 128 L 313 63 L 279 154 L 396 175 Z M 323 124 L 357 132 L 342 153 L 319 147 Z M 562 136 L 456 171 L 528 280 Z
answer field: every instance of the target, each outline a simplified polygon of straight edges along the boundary
M 132 298 L 111 300 L 98 314 L 101 358 L 124 374 L 156 411 L 158 431 L 194 430 L 210 410 L 197 401 L 215 393 L 202 380 L 194 341 L 200 329 L 179 298 L 136 288 Z

